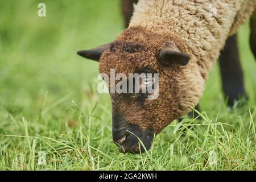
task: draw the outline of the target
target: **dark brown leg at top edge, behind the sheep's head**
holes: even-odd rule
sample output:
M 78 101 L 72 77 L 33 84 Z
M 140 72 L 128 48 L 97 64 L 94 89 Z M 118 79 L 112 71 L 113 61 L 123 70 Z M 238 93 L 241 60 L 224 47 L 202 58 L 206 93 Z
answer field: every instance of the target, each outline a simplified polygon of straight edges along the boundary
M 130 23 L 131 16 L 133 15 L 133 4 L 139 0 L 122 0 L 122 13 L 125 18 L 125 27 L 127 28 Z

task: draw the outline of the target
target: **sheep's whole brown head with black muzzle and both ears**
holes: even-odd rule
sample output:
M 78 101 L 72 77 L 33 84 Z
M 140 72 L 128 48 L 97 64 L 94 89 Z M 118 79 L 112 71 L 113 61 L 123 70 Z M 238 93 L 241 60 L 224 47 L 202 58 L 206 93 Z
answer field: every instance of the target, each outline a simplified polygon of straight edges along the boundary
M 113 43 L 78 52 L 86 58 L 99 60 L 100 73 L 111 77 L 114 71 L 115 75 L 126 76 L 122 79 L 127 81 L 127 87 L 119 87 L 123 92 L 112 92 L 109 81 L 113 139 L 121 152 L 143 152 L 138 138 L 148 150 L 155 133 L 199 102 L 204 80 L 189 61 L 191 56 L 184 53 L 185 46 L 181 42 L 181 46 L 175 46 L 177 41 L 142 28 L 129 28 Z M 142 75 L 137 84 L 131 81 L 136 74 L 131 77 L 129 73 Z M 119 79 L 114 80 L 114 86 Z M 149 85 L 153 92 L 148 92 Z M 129 90 L 131 87 L 133 92 Z M 145 87 L 146 92 L 142 93 Z M 136 88 L 139 93 L 135 93 Z

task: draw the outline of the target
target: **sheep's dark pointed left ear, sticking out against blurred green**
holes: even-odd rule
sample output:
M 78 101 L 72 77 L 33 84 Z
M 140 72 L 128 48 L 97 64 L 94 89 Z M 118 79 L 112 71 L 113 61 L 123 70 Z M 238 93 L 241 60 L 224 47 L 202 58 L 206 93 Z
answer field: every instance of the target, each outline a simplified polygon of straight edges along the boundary
M 111 43 L 105 44 L 103 46 L 100 47 L 96 47 L 90 50 L 85 50 L 85 51 L 78 51 L 77 54 L 85 57 L 87 59 L 91 59 L 91 60 L 95 60 L 95 61 L 99 61 L 101 58 L 101 55 L 104 51 L 106 51 L 107 49 L 110 49 Z

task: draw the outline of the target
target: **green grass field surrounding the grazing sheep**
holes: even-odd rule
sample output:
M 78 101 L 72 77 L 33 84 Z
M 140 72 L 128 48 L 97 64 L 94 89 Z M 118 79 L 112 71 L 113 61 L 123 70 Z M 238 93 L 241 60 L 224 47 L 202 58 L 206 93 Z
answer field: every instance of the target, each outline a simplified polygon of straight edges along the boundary
M 37 1 L 0 1 L 1 170 L 256 169 L 256 64 L 248 24 L 240 28 L 239 46 L 250 100 L 226 106 L 216 64 L 201 119 L 174 121 L 151 150 L 124 155 L 112 141 L 110 98 L 97 93 L 98 63 L 76 55 L 122 32 L 119 1 L 42 2 L 45 18 L 37 15 Z M 42 154 L 46 164 L 39 165 Z

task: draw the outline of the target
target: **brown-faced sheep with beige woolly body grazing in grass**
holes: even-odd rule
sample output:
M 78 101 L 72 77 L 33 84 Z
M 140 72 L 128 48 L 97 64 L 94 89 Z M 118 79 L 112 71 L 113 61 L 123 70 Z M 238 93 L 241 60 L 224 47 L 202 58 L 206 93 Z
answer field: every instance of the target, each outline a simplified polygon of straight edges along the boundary
M 255 0 L 139 0 L 129 27 L 114 42 L 77 52 L 100 61 L 100 73 L 107 75 L 110 69 L 125 75 L 159 73 L 156 100 L 110 94 L 113 140 L 120 152 L 143 152 L 138 138 L 148 150 L 154 134 L 199 103 L 226 40 L 250 16 L 256 57 L 255 9 Z

